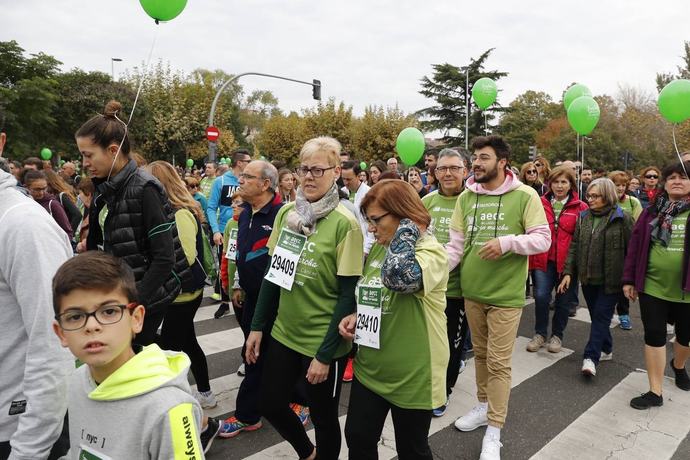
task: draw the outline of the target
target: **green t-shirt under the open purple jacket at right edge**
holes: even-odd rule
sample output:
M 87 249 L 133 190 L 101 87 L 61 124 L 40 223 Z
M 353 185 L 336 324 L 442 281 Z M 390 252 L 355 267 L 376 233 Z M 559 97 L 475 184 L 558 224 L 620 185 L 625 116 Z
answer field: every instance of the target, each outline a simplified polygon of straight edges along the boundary
M 649 245 L 647 273 L 644 277 L 644 293 L 672 302 L 690 302 L 682 286 L 683 243 L 690 211 L 673 217 L 671 242 L 668 248 L 658 241 Z

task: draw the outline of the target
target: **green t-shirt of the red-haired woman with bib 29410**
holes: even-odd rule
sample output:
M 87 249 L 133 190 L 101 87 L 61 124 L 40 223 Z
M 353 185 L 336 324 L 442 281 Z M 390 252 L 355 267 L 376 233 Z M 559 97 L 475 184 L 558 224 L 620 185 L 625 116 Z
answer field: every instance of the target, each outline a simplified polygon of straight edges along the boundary
M 386 247 L 375 243 L 359 285 L 382 286 Z M 448 254 L 431 235 L 417 241 L 424 290 L 413 294 L 382 288 L 380 349 L 360 346 L 357 380 L 405 409 L 435 409 L 446 400 L 449 347 L 446 332 Z M 523 283 L 524 284 L 524 283 Z

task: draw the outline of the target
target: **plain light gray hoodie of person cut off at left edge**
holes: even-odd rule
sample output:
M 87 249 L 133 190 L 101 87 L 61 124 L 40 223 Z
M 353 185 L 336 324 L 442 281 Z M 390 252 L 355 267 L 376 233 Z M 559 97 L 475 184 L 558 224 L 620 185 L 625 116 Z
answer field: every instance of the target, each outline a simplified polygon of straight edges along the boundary
M 0 441 L 10 459 L 46 459 L 75 368 L 52 332 L 52 277 L 72 257 L 67 235 L 0 171 Z

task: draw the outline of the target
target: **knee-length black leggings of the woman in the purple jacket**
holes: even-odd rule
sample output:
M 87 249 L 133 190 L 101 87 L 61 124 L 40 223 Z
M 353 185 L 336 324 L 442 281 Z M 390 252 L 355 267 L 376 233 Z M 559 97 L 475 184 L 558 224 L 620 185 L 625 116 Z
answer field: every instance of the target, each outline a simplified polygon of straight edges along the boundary
M 666 346 L 666 324 L 675 321 L 678 345 L 690 346 L 690 305 L 687 303 L 671 302 L 640 292 L 640 313 L 646 345 Z

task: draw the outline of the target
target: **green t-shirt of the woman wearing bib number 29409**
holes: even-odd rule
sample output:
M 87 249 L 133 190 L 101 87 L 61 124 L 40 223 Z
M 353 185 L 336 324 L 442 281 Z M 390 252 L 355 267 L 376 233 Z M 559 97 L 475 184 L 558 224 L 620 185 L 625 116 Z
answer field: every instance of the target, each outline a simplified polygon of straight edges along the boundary
M 270 256 L 281 230 L 287 228 L 288 212 L 294 208 L 295 203 L 288 203 L 278 211 L 267 244 Z M 337 275 L 362 275 L 362 248 L 362 228 L 342 203 L 319 219 L 314 232 L 306 239 L 292 290 L 280 290 L 278 316 L 271 336 L 292 350 L 314 357 L 333 319 L 338 299 Z M 342 339 L 333 358 L 342 357 L 351 348 L 351 341 Z

